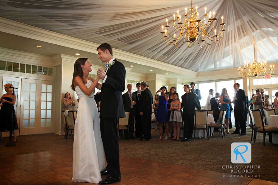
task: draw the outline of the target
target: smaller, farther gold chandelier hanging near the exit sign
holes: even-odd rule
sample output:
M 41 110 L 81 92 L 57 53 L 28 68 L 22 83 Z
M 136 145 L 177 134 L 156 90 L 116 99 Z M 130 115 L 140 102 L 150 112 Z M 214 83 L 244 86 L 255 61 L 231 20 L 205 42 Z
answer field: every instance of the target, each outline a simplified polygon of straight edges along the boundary
M 246 61 L 244 62 L 244 71 L 243 69 L 240 70 L 240 67 L 238 68 L 238 74 L 241 77 L 247 77 L 247 76 L 255 76 L 257 78 L 258 75 L 261 75 L 265 77 L 266 75 L 272 75 L 274 73 L 274 65 L 270 65 L 270 72 L 267 74 L 266 72 L 266 66 L 267 66 L 267 61 L 263 60 L 263 62 L 260 63 L 260 60 L 258 63 L 256 63 L 256 58 L 255 58 L 255 44 L 254 44 L 254 60 L 253 64 L 249 64 L 249 60 L 246 64 Z M 246 73 L 246 75 L 243 75 L 243 72 Z

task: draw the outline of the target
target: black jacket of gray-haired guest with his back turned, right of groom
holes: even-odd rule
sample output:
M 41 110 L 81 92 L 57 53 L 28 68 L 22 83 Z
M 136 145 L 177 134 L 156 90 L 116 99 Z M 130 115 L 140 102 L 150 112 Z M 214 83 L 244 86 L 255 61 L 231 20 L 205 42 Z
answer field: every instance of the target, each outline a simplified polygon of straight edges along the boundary
M 141 91 L 141 96 L 139 99 L 139 108 L 138 113 L 143 113 L 143 115 L 151 115 L 153 113 L 152 105 L 154 101 L 152 100 L 152 93 L 148 88 L 145 88 L 144 91 Z

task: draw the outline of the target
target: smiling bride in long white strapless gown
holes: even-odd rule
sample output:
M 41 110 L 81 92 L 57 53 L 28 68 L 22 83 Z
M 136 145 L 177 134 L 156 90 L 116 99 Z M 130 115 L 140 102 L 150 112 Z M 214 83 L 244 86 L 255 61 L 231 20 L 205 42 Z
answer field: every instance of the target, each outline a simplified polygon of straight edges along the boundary
M 74 63 L 71 88 L 79 98 L 77 119 L 74 126 L 72 182 L 99 183 L 100 171 L 105 167 L 100 122 L 93 91 L 101 89 L 99 77 L 88 77 L 92 64 L 87 58 Z

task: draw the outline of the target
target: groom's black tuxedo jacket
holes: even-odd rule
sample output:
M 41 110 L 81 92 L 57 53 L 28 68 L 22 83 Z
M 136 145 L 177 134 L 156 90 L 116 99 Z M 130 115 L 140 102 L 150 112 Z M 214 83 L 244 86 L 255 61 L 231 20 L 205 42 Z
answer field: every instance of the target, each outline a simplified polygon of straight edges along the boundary
M 102 84 L 101 92 L 95 95 L 95 101 L 100 104 L 100 116 L 103 118 L 125 117 L 122 92 L 125 90 L 124 65 L 114 60 L 110 69 L 107 69 L 106 80 Z

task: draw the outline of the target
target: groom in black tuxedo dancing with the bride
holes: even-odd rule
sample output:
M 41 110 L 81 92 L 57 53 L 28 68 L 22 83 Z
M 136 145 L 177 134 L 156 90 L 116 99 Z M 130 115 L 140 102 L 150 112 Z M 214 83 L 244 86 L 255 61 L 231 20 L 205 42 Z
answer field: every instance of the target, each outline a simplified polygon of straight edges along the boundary
M 101 175 L 108 175 L 99 184 L 111 184 L 121 181 L 120 154 L 117 123 L 118 118 L 125 117 L 122 92 L 125 89 L 124 65 L 113 58 L 112 47 L 103 43 L 97 48 L 99 59 L 106 63 L 106 71 L 98 69 L 97 75 L 103 80 L 101 92 L 95 95 L 100 104 L 100 132 L 103 142 L 106 169 Z

